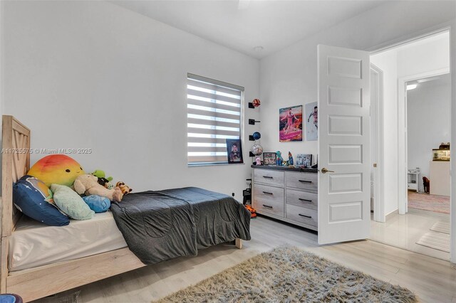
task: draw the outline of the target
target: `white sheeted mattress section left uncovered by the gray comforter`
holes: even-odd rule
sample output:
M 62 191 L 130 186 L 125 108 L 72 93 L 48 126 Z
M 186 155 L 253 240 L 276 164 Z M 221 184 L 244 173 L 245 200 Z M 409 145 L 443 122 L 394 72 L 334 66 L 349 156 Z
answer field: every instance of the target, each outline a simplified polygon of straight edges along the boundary
M 9 241 L 9 270 L 24 270 L 126 247 L 110 211 L 96 213 L 90 220 L 71 220 L 66 226 L 48 226 L 22 216 Z

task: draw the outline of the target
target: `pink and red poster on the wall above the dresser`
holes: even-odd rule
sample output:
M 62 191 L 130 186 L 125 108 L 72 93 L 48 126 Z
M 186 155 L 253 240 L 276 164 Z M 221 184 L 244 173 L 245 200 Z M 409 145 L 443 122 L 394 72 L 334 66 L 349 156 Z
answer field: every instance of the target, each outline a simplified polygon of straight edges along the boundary
M 279 141 L 302 141 L 302 105 L 279 110 Z

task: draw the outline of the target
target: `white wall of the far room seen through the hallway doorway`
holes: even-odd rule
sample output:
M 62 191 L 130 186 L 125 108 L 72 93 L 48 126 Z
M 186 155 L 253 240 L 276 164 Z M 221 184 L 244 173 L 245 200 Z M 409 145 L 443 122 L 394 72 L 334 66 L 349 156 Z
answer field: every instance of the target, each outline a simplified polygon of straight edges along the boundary
M 450 83 L 424 83 L 407 92 L 408 167 L 420 167 L 421 176 L 430 178 L 432 149 L 437 149 L 442 142 L 450 142 L 450 101 Z M 418 185 L 422 190 L 421 179 Z

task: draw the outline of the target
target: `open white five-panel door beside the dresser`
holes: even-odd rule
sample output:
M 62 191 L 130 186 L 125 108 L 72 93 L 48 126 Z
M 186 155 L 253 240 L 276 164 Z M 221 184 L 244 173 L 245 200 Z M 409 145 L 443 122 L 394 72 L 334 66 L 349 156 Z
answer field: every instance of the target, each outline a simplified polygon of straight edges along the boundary
M 318 46 L 318 243 L 369 237 L 369 53 Z

